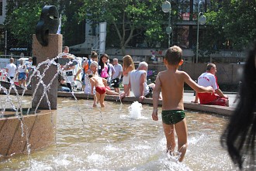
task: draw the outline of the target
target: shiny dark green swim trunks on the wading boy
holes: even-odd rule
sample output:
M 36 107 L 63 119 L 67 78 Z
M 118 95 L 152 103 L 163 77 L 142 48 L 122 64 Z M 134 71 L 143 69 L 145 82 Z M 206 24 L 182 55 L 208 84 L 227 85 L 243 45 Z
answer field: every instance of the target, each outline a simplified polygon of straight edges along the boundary
M 182 110 L 162 111 L 162 121 L 167 125 L 174 125 L 185 118 L 185 112 Z

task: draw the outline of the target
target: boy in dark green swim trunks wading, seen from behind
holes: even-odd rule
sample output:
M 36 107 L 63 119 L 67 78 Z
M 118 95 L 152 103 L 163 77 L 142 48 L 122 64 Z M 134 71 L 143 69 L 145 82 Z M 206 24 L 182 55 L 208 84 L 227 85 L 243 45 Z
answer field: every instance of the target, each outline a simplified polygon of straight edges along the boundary
M 167 70 L 157 74 L 153 93 L 152 118 L 158 120 L 157 106 L 160 91 L 162 92 L 162 121 L 164 135 L 167 140 L 167 151 L 172 155 L 175 152 L 175 132 L 178 136 L 179 161 L 182 162 L 187 149 L 188 129 L 185 121 L 183 104 L 184 83 L 189 84 L 197 92 L 213 93 L 213 87 L 202 87 L 189 77 L 189 74 L 178 70 L 183 63 L 182 49 L 178 46 L 168 48 L 164 56 L 164 65 Z

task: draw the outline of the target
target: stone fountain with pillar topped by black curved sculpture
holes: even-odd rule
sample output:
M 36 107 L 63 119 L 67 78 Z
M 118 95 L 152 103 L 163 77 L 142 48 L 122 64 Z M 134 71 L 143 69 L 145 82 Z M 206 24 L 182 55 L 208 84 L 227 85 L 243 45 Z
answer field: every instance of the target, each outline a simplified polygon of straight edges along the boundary
M 30 153 L 55 142 L 57 66 L 45 61 L 56 57 L 62 50 L 62 35 L 53 34 L 57 32 L 58 17 L 50 21 L 52 15 L 58 15 L 56 12 L 56 7 L 45 6 L 36 26 L 36 35 L 33 35 L 33 55 L 39 64 L 33 67 L 28 82 L 32 83 L 31 106 L 23 107 L 22 98 L 27 87 L 19 95 L 13 81 L 9 90 L 0 85 L 0 91 L 5 93 L 1 99 L 0 158 Z M 15 91 L 16 97 L 10 97 L 12 91 Z

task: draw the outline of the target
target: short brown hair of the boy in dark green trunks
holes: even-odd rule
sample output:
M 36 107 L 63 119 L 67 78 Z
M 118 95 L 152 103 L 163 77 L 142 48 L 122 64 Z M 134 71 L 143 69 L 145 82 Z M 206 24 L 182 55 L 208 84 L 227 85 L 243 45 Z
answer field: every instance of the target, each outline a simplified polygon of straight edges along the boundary
M 179 46 L 171 46 L 166 51 L 164 58 L 168 64 L 178 65 L 182 60 L 182 49 Z

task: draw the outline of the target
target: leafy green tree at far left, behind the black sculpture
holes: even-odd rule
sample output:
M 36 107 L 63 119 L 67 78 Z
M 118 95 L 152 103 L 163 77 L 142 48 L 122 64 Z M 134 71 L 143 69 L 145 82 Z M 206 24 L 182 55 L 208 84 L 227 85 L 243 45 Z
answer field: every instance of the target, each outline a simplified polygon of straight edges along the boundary
M 31 46 L 32 35 L 36 33 L 36 24 L 44 5 L 61 7 L 61 0 L 8 1 L 5 26 L 18 40 L 17 45 Z

